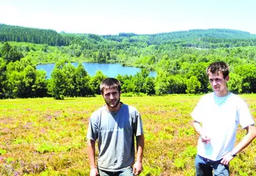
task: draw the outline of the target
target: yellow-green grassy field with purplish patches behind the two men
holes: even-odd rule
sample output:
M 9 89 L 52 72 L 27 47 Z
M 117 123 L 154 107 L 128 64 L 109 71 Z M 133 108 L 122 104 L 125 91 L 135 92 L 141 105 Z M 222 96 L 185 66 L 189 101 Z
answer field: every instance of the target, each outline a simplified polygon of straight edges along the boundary
M 145 175 L 195 175 L 197 134 L 189 113 L 201 95 L 122 97 L 142 114 Z M 256 120 L 256 95 L 241 95 Z M 0 175 L 89 175 L 89 116 L 96 98 L 0 100 Z M 245 130 L 237 133 L 237 140 Z M 256 175 L 256 140 L 232 160 L 231 175 Z

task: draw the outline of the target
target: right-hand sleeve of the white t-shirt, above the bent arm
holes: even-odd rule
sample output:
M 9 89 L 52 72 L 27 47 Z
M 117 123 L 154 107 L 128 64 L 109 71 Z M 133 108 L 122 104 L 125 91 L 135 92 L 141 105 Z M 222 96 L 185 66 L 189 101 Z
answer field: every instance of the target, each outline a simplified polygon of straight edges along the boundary
M 252 119 L 252 115 L 250 114 L 250 110 L 244 100 L 240 100 L 237 108 L 237 116 L 239 120 L 238 123 L 240 123 L 242 128 L 255 124 L 254 120 Z

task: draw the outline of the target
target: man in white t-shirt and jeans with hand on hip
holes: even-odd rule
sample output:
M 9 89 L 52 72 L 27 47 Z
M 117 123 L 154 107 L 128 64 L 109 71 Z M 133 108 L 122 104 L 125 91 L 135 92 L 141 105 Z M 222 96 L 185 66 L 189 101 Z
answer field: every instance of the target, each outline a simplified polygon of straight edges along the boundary
M 256 127 L 244 100 L 227 89 L 229 68 L 225 62 L 210 64 L 207 76 L 213 93 L 204 95 L 191 115 L 200 135 L 195 158 L 196 175 L 229 175 L 229 163 L 256 137 Z M 237 126 L 247 130 L 235 146 Z

